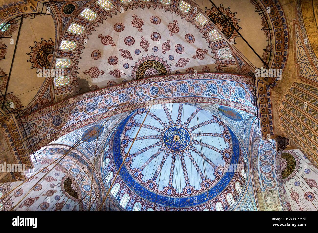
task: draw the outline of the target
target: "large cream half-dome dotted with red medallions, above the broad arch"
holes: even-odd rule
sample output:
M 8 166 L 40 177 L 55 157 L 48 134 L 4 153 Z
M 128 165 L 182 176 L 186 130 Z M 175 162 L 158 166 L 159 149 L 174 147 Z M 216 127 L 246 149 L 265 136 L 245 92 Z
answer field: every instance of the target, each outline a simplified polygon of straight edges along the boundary
M 95 30 L 82 49 L 77 75 L 90 86 L 194 70 L 216 71 L 211 41 L 171 12 L 133 8 L 103 20 Z

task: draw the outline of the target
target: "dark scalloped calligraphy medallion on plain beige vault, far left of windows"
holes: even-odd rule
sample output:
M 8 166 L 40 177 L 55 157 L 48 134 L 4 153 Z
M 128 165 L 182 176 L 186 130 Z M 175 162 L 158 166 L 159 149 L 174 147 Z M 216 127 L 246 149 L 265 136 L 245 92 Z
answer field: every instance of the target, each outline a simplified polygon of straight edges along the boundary
M 54 42 L 52 41 L 52 38 L 50 38 L 48 41 L 41 38 L 41 42 L 35 41 L 34 43 L 34 47 L 29 47 L 31 52 L 27 53 L 27 55 L 31 57 L 28 62 L 33 64 L 31 68 L 49 68 L 53 59 L 54 51 Z

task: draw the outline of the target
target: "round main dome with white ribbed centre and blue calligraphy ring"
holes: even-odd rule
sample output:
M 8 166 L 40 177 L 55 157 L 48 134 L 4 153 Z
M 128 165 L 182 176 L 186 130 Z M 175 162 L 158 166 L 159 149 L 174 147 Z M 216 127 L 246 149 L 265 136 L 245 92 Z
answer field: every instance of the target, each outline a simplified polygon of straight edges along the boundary
M 105 152 L 107 185 L 120 170 L 116 182 L 159 209 L 213 210 L 212 200 L 223 192 L 237 196 L 232 182 L 244 185 L 240 171 L 226 169 L 240 163 L 235 134 L 212 112 L 187 103 L 131 112 L 110 134 Z

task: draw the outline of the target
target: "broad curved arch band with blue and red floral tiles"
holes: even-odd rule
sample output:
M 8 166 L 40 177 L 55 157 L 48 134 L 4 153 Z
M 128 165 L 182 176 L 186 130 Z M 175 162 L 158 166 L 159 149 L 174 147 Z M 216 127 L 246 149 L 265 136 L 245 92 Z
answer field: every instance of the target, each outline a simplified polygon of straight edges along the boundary
M 223 90 L 218 87 L 218 83 L 231 89 L 232 94 L 229 94 L 226 88 Z M 213 84 L 217 87 L 216 90 L 212 88 Z M 142 99 L 138 98 L 134 92 L 137 86 L 144 92 Z M 197 88 L 200 88 L 200 92 Z M 173 93 L 171 89 L 174 90 Z M 233 94 L 239 89 L 244 91 L 244 96 Z M 243 75 L 199 73 L 196 78 L 193 74 L 149 77 L 63 100 L 31 113 L 26 116 L 27 122 L 22 123 L 24 125 L 28 123 L 31 126 L 31 134 L 37 135 L 34 138 L 36 148 L 40 149 L 50 141 L 82 126 L 118 113 L 147 107 L 160 100 L 216 103 L 253 114 L 253 89 L 252 78 Z M 194 93 L 195 97 L 193 97 Z M 95 106 L 94 110 L 91 104 Z M 88 106 L 89 111 L 87 111 Z M 85 118 L 77 116 L 76 112 L 77 114 L 85 112 Z M 18 124 L 23 129 L 20 121 Z M 50 134 L 50 140 L 47 139 L 48 134 Z

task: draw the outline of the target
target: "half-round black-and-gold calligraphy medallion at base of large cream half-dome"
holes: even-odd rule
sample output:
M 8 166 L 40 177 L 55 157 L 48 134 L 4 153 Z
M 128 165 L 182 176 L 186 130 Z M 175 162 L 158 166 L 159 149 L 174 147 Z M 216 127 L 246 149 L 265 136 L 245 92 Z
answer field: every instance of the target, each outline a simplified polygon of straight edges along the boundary
M 142 56 L 141 59 L 138 59 L 135 62 L 135 66 L 132 67 L 132 70 L 129 71 L 131 73 L 130 78 L 132 80 L 142 79 L 150 76 L 159 76 L 171 74 L 171 65 L 167 64 L 167 61 L 163 60 L 163 57 L 159 58 L 159 56 Z

